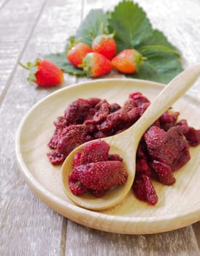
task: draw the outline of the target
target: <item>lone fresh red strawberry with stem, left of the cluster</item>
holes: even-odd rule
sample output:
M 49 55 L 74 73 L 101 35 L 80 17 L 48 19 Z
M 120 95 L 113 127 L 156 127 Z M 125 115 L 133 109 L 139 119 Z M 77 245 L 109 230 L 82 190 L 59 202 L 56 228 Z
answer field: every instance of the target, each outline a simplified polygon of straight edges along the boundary
M 56 86 L 64 82 L 63 72 L 51 61 L 36 59 L 33 63 L 28 62 L 27 66 L 19 64 L 30 71 L 28 81 L 34 82 L 38 86 Z

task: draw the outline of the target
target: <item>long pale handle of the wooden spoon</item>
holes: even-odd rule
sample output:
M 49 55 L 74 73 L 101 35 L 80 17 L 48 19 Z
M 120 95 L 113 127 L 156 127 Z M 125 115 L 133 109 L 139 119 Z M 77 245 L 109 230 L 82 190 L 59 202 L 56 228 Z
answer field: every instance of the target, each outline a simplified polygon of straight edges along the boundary
M 200 75 L 200 64 L 193 65 L 185 69 L 180 75 L 177 75 L 153 100 L 145 113 L 134 124 L 134 132 L 138 131 L 139 135 L 143 135 L 148 127 L 153 124 L 174 102 L 179 99 L 182 94 L 195 83 Z M 130 130 L 131 130 L 130 128 Z M 129 129 L 128 129 L 129 130 Z M 129 131 L 128 131 L 129 132 Z M 131 131 L 130 131 L 131 132 Z

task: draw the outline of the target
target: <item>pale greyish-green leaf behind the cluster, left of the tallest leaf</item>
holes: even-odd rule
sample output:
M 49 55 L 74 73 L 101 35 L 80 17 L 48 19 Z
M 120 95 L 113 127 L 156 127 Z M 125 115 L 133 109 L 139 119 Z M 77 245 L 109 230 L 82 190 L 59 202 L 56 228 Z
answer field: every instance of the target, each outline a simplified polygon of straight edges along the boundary
M 109 12 L 104 13 L 101 9 L 91 10 L 77 29 L 75 39 L 81 38 L 82 42 L 91 45 L 93 37 L 101 34 L 101 23 L 104 24 L 104 31 L 107 32 L 108 17 Z

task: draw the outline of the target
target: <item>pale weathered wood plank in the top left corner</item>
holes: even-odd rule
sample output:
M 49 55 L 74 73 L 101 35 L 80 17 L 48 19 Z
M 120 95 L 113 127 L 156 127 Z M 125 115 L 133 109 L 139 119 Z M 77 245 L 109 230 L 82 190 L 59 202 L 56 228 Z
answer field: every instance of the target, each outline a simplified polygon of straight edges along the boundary
M 0 102 L 45 1 L 7 1 L 0 10 Z M 11 15 L 12 14 L 12 15 Z

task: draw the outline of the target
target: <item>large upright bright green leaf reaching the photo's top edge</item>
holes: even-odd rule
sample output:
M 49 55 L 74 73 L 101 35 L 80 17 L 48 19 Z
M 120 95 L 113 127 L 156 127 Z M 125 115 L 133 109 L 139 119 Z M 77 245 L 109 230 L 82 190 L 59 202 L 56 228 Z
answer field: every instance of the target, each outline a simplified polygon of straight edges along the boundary
M 122 1 L 111 12 L 109 30 L 115 31 L 118 52 L 126 48 L 135 48 L 153 33 L 147 15 L 133 1 Z

